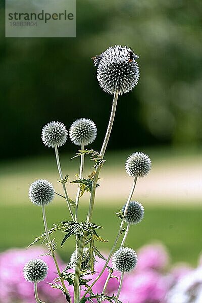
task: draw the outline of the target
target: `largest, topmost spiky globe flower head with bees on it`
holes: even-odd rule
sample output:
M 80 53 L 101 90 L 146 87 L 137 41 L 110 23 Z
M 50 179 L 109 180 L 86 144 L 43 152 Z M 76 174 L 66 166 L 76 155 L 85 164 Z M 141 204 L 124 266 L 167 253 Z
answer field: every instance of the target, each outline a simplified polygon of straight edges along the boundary
M 114 94 L 128 93 L 139 80 L 139 58 L 128 46 L 115 45 L 96 56 L 97 80 L 104 91 Z

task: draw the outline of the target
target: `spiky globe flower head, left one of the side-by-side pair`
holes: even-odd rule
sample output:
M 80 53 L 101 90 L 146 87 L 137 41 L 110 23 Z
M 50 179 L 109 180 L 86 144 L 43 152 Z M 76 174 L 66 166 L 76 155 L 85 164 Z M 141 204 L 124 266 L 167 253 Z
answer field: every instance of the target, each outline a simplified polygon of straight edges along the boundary
M 68 131 L 65 125 L 61 122 L 49 122 L 43 126 L 41 138 L 48 147 L 58 147 L 67 141 Z

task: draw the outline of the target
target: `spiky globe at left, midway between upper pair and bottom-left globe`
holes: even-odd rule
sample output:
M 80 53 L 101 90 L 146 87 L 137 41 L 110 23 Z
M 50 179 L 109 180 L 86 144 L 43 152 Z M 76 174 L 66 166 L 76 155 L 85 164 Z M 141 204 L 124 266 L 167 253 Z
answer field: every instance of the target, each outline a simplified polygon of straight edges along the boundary
M 29 198 L 37 206 L 50 203 L 54 196 L 55 190 L 52 183 L 44 179 L 34 181 L 29 188 Z

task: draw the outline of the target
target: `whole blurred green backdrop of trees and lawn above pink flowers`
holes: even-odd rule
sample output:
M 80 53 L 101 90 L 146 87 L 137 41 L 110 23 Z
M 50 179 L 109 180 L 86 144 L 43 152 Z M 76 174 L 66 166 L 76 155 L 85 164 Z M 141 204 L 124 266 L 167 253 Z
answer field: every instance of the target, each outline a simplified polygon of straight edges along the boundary
M 27 197 L 29 184 L 48 178 L 59 188 L 53 150 L 40 139 L 42 126 L 58 120 L 69 128 L 76 118 L 90 118 L 98 129 L 92 147 L 100 148 L 112 96 L 98 86 L 90 58 L 122 44 L 139 55 L 140 80 L 119 98 L 93 221 L 105 227 L 102 235 L 112 243 L 119 223 L 114 212 L 131 185 L 125 159 L 142 150 L 153 170 L 137 184 L 134 198 L 145 205 L 145 220 L 131 231 L 128 244 L 161 240 L 174 261 L 196 264 L 202 244 L 201 2 L 77 0 L 76 38 L 5 38 L 1 3 L 0 249 L 24 247 L 42 231 L 40 209 Z M 75 151 L 70 141 L 61 148 L 64 172 L 72 180 L 78 161 L 68 161 Z M 86 176 L 88 162 L 87 167 Z M 65 205 L 57 198 L 48 208 L 48 223 L 63 219 Z M 60 250 L 66 260 L 70 244 Z

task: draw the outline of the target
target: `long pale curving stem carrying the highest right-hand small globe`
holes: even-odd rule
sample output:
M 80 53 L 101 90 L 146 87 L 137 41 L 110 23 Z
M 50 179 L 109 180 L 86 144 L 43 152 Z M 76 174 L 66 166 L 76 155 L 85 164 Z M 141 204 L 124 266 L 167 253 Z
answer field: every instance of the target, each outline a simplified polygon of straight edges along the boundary
M 130 200 L 131 200 L 131 198 L 132 198 L 133 192 L 134 192 L 134 190 L 135 190 L 136 182 L 137 182 L 137 177 L 134 178 L 134 181 L 133 181 L 133 184 L 132 184 L 132 188 L 131 188 L 130 194 L 129 194 L 129 196 L 128 196 L 128 200 L 127 200 L 126 207 L 125 207 L 125 210 L 124 210 L 124 217 L 125 217 L 125 215 L 126 215 L 126 212 L 127 212 L 127 209 L 128 209 L 128 205 L 129 205 Z M 124 218 L 121 220 L 119 232 L 118 232 L 118 234 L 117 234 L 117 237 L 116 237 L 116 239 L 115 239 L 114 245 L 113 245 L 113 247 L 112 247 L 112 249 L 111 249 L 111 251 L 110 251 L 109 257 L 108 257 L 108 259 L 107 259 L 107 261 L 106 261 L 106 263 L 105 263 L 105 265 L 104 265 L 102 271 L 100 271 L 99 275 L 94 279 L 94 281 L 93 281 L 92 284 L 88 287 L 88 289 L 85 291 L 85 293 L 84 293 L 84 295 L 82 296 L 81 299 L 83 299 L 83 298 L 85 297 L 85 295 L 86 295 L 86 294 L 88 293 L 88 291 L 92 288 L 92 286 L 99 280 L 99 278 L 100 278 L 100 277 L 102 276 L 102 274 L 104 273 L 106 267 L 108 266 L 108 263 L 110 262 L 110 259 L 111 259 L 112 255 L 113 255 L 113 253 L 114 253 L 114 251 L 115 251 L 115 248 L 116 248 L 116 246 L 117 246 L 118 240 L 119 240 L 119 238 L 120 238 L 120 236 L 121 236 L 121 234 L 122 234 L 122 232 L 123 232 L 123 225 L 124 225 Z

